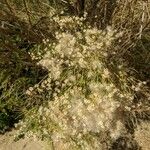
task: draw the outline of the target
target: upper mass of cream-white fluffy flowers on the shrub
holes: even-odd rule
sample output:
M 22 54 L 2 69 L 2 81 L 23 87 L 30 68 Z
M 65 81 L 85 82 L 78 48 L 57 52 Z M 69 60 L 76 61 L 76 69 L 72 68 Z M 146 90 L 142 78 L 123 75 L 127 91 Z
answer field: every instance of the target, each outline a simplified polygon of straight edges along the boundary
M 52 43 L 38 64 L 46 67 L 51 73 L 55 72 L 55 75 L 52 75 L 55 78 L 60 76 L 63 65 L 101 70 L 101 58 L 107 56 L 108 47 L 117 36 L 113 30 L 108 31 L 106 33 L 98 29 L 87 29 L 75 35 L 57 32 L 57 43 Z

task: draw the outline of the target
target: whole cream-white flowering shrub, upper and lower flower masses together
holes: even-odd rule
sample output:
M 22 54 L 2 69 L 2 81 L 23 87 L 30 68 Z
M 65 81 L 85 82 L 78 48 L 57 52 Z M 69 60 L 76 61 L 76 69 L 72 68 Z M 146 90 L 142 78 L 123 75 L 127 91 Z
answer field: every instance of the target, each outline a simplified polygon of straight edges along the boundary
M 77 21 L 70 18 L 60 24 L 74 19 Z M 38 62 L 49 71 L 48 76 L 27 91 L 32 95 L 36 90 L 38 94 L 46 90 L 51 95 L 48 106 L 41 106 L 33 116 L 38 118 L 42 134 L 51 136 L 54 145 L 59 141 L 68 143 L 68 149 L 99 149 L 101 134 L 120 134 L 118 126 L 116 130 L 110 128 L 118 121 L 116 111 L 121 99 L 130 96 L 111 83 L 103 61 L 118 34 L 110 27 L 106 31 L 89 27 L 77 32 L 61 30 L 55 35 L 56 42 L 44 40 L 45 54 Z

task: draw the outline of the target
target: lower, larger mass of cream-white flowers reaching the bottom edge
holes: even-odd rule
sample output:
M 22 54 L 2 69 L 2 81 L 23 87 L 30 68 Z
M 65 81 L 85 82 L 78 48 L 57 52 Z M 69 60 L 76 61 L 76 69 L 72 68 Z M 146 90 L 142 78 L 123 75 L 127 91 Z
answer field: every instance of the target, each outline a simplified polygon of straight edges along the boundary
M 119 90 L 105 82 L 91 82 L 89 90 L 91 92 L 86 97 L 81 87 L 74 86 L 61 96 L 55 96 L 48 106 L 40 106 L 33 114 L 39 128 L 42 127 L 40 134 L 50 136 L 56 149 L 59 144 L 66 146 L 66 150 L 79 145 L 81 149 L 100 148 L 98 139 L 102 134 L 110 132 L 112 139 L 116 139 L 123 132 L 124 127 L 117 120 L 121 99 Z M 28 123 L 30 120 L 23 126 L 28 126 Z

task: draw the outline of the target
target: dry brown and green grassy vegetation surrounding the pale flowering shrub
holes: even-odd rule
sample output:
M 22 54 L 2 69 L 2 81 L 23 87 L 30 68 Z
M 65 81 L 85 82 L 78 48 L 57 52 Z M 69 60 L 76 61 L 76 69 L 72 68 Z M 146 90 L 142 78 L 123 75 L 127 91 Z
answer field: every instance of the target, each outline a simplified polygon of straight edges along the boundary
M 90 29 L 96 37 L 94 44 L 90 40 L 92 44 L 88 43 L 84 35 L 85 31 Z M 108 46 L 105 37 L 111 34 L 111 31 L 115 35 L 112 36 L 114 39 L 109 36 L 108 41 L 110 40 L 111 44 Z M 77 37 L 78 32 L 82 33 L 81 36 L 87 43 L 77 39 L 76 47 L 88 44 L 91 47 L 100 43 L 98 38 L 101 34 L 97 33 L 103 33 L 103 37 L 100 38 L 104 38 L 105 45 L 100 49 L 103 51 L 103 55 L 100 55 L 102 58 L 92 58 L 94 54 L 90 58 L 100 62 L 105 69 L 101 71 L 99 80 L 103 85 L 113 84 L 114 89 L 125 93 L 124 95 L 132 95 L 132 100 L 121 97 L 119 100 L 122 104 L 118 109 L 125 132 L 113 140 L 104 132 L 104 140 L 101 140 L 101 143 L 105 143 L 105 149 L 140 149 L 134 140 L 134 132 L 140 122 L 150 120 L 150 2 L 144 0 L 1 0 L 0 132 L 4 133 L 14 127 L 19 120 L 23 120 L 24 123 L 18 124 L 21 128 L 18 136 L 23 136 L 26 132 L 30 134 L 32 131 L 34 134 L 38 133 L 40 138 L 52 138 L 52 131 L 48 127 L 50 120 L 39 123 L 33 118 L 37 116 L 40 120 L 39 109 L 44 109 L 49 102 L 49 107 L 52 107 L 51 101 L 54 99 L 50 93 L 55 93 L 55 80 L 50 82 L 50 90 L 47 87 L 42 88 L 44 92 L 33 89 L 37 88 L 37 85 L 41 87 L 52 70 L 42 63 L 46 53 L 54 51 L 54 54 L 47 56 L 49 60 L 59 58 L 60 53 L 57 53 L 55 46 L 63 43 L 56 35 L 61 37 L 63 33 L 69 33 Z M 118 36 L 115 37 L 116 35 Z M 63 61 L 66 59 L 68 58 L 64 58 Z M 75 82 L 83 89 L 88 89 L 84 84 L 89 84 L 86 78 L 88 69 L 83 67 L 81 72 L 84 78 L 80 83 L 79 80 Z M 106 70 L 109 72 L 109 78 L 103 79 L 103 75 L 107 75 Z M 68 74 L 68 70 L 65 73 Z M 78 74 L 80 73 L 73 73 L 75 76 Z M 68 88 L 68 85 L 66 87 Z M 63 88 L 58 89 L 64 92 Z M 101 92 L 99 94 L 101 95 Z M 24 124 L 27 127 L 23 128 Z M 43 129 L 50 131 L 48 137 L 43 136 Z M 101 135 L 90 133 L 88 140 L 97 141 L 100 137 Z M 88 149 L 86 145 L 77 145 L 75 149 Z M 98 147 L 100 148 L 100 145 Z

